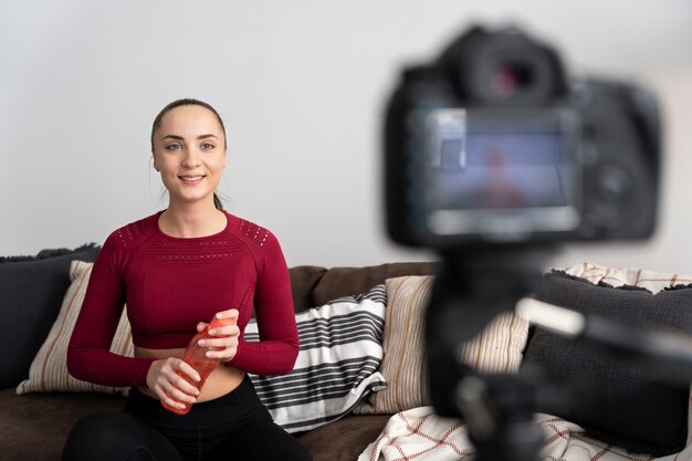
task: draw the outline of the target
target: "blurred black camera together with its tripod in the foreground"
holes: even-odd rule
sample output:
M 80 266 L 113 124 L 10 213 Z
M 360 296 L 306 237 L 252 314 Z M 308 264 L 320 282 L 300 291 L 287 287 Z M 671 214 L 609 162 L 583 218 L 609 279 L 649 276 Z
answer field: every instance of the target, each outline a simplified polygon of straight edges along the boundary
M 480 376 L 455 352 L 535 292 L 559 243 L 652 234 L 657 101 L 631 83 L 569 76 L 516 28 L 475 27 L 402 72 L 384 142 L 389 237 L 442 260 L 424 321 L 432 406 L 464 419 L 476 461 L 535 461 L 533 411 L 549 386 Z

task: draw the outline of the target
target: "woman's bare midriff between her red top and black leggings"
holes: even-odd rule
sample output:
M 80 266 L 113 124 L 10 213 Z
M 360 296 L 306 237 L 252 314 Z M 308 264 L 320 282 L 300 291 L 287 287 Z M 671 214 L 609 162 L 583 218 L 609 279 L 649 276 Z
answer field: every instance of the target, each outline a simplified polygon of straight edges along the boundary
M 166 359 L 168 357 L 182 358 L 185 355 L 185 348 L 180 349 L 147 349 L 144 347 L 135 346 L 135 357 Z M 198 402 L 213 400 L 221 396 L 227 395 L 231 390 L 235 389 L 243 380 L 245 373 L 233 367 L 227 367 L 223 364 L 219 364 L 217 368 L 211 371 L 202 387 L 202 391 L 197 397 Z M 149 390 L 148 387 L 140 387 L 139 390 L 151 398 L 158 398 Z

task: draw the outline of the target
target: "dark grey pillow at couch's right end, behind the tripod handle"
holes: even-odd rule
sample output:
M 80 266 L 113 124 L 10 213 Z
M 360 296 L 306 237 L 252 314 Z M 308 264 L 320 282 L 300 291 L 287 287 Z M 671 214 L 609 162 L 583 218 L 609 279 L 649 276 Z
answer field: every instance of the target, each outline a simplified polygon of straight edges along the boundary
M 545 275 L 536 297 L 622 324 L 692 334 L 690 286 L 652 294 L 628 285 L 595 285 L 554 271 Z M 572 405 L 555 416 L 578 423 L 590 437 L 657 457 L 685 446 L 690 388 L 657 376 L 642 360 L 536 328 L 522 367 L 576 389 Z

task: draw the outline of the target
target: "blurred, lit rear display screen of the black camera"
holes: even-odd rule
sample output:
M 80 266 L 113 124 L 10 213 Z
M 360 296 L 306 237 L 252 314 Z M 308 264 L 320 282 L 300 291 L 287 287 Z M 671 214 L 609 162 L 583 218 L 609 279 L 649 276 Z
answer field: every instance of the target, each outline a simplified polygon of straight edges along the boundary
M 437 234 L 517 240 L 578 224 L 576 122 L 565 111 L 436 109 L 426 207 Z

